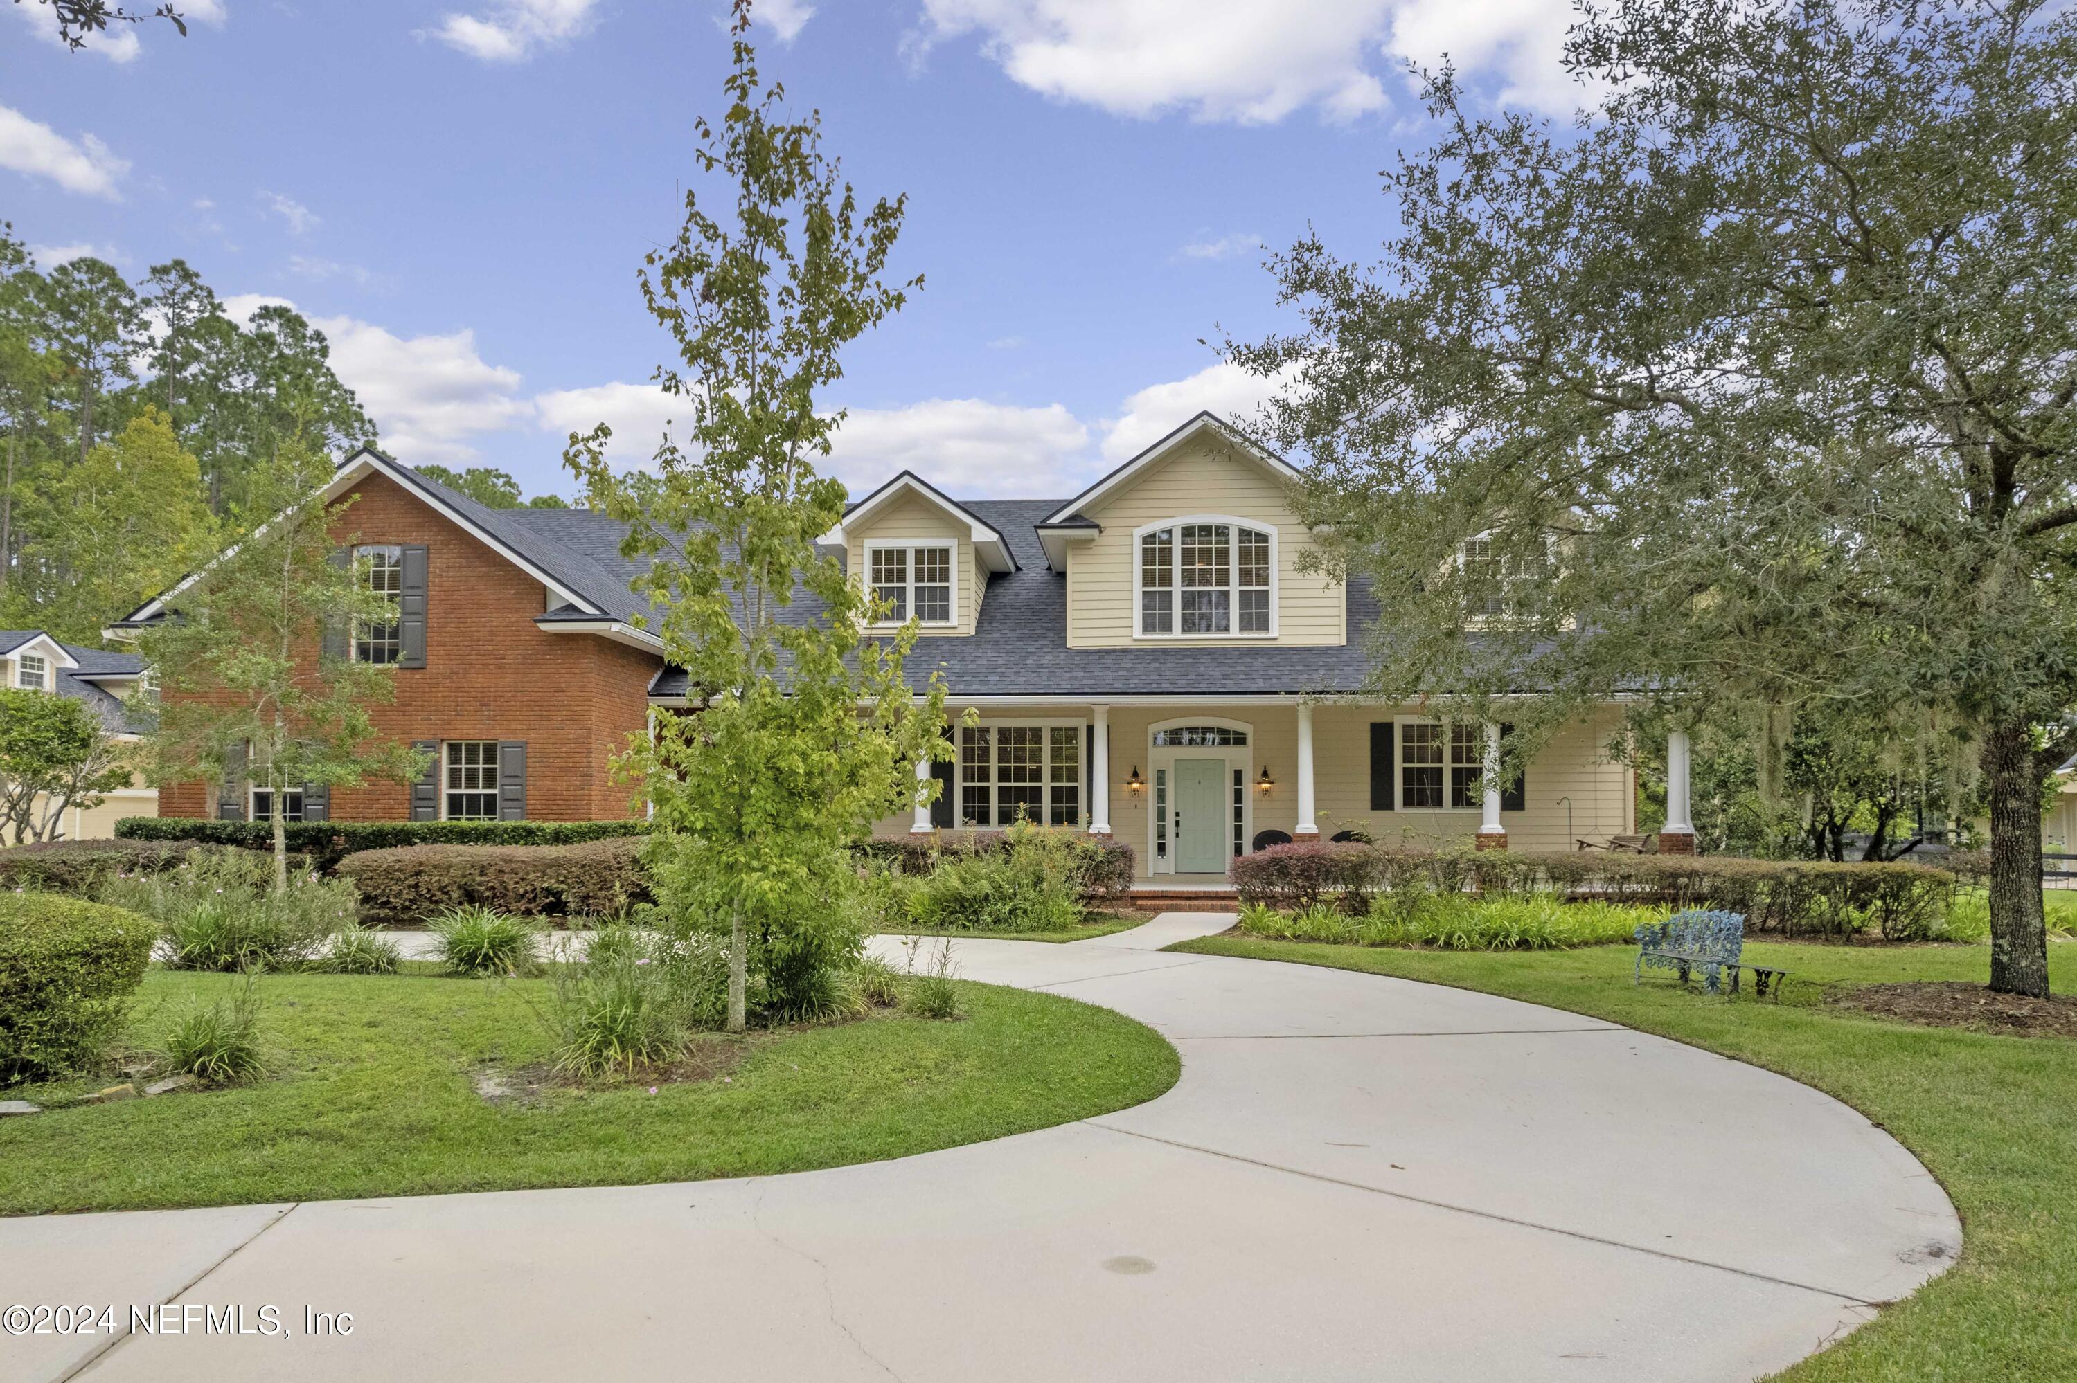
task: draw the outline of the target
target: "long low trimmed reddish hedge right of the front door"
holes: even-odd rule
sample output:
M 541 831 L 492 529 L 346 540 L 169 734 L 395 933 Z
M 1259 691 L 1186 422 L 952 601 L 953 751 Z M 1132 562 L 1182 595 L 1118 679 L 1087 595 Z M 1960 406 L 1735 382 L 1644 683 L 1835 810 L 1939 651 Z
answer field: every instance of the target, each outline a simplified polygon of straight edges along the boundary
M 1745 914 L 1751 932 L 1927 941 L 1946 926 L 1954 874 L 1923 864 L 1832 864 L 1612 851 L 1417 851 L 1383 845 L 1273 845 L 1234 860 L 1244 903 L 1363 912 L 1369 895 L 1433 889 Z

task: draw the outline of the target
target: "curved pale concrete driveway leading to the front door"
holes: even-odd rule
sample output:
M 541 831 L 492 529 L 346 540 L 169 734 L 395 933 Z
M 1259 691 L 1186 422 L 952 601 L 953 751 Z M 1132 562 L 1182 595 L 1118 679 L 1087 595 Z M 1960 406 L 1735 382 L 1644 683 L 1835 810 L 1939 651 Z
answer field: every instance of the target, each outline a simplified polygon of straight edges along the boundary
M 272 1304 L 297 1335 L 0 1335 L 0 1377 L 1751 1379 L 1961 1246 L 1925 1169 L 1807 1086 L 1159 951 L 1230 922 L 955 943 L 966 978 L 1182 1051 L 1169 1094 L 1082 1123 L 748 1182 L 0 1221 L 0 1304 Z

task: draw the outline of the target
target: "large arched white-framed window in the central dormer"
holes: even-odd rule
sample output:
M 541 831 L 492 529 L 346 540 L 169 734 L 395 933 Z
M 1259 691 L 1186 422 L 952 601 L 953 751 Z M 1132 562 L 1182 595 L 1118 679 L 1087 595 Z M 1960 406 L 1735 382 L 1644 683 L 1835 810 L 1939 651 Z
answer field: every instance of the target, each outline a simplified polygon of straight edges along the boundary
M 1138 534 L 1140 638 L 1275 633 L 1275 534 L 1190 519 Z

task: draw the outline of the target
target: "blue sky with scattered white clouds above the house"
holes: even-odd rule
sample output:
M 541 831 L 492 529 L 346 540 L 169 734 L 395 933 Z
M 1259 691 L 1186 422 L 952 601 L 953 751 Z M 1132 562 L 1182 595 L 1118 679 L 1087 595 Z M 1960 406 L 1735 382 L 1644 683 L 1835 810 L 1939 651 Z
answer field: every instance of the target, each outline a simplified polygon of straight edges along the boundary
M 569 490 L 561 438 L 663 426 L 633 274 L 719 112 L 721 0 L 189 0 L 98 52 L 0 15 L 0 216 L 46 266 L 189 260 L 287 299 L 405 461 Z M 910 195 L 924 291 L 847 355 L 837 473 L 1072 494 L 1261 382 L 1261 245 L 1365 255 L 1425 120 L 1406 56 L 1570 108 L 1564 0 L 764 0 L 766 77 L 862 193 Z

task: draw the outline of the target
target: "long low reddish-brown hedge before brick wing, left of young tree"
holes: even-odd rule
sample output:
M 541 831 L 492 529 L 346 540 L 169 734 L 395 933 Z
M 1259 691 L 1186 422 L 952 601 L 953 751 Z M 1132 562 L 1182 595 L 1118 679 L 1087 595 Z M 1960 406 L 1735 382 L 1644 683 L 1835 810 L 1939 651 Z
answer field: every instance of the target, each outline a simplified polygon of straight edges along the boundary
M 521 918 L 617 918 L 652 901 L 636 839 L 363 849 L 341 862 L 339 876 L 359 889 L 361 918 L 374 924 L 471 905 Z

